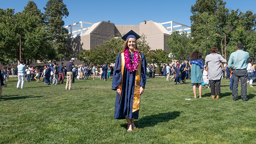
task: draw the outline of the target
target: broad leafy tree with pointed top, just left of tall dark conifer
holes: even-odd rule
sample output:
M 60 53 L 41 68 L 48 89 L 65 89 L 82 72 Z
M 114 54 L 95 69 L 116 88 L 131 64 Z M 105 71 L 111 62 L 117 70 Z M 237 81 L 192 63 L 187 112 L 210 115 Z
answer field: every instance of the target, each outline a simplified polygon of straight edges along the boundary
M 29 1 L 17 19 L 22 30 L 22 58 L 27 64 L 33 60 L 47 62 L 56 58 L 56 51 L 52 47 L 49 31 L 44 24 L 43 13 L 37 9 L 34 1 Z

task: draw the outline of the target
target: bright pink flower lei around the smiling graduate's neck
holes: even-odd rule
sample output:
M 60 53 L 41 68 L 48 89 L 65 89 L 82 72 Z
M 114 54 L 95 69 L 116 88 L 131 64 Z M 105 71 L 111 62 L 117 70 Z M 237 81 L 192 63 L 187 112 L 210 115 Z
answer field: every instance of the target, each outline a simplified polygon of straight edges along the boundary
M 133 53 L 133 62 L 131 64 L 129 49 L 126 48 L 125 51 L 124 51 L 124 60 L 125 60 L 125 66 L 126 66 L 127 70 L 130 73 L 133 73 L 133 71 L 137 70 L 137 67 L 140 63 L 139 62 L 139 52 L 135 51 Z

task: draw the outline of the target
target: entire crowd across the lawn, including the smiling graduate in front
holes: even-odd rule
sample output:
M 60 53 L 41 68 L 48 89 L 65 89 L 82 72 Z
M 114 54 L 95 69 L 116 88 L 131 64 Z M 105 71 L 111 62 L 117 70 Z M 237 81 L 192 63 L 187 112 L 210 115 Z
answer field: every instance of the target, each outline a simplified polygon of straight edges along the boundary
M 98 77 L 106 81 L 113 74 L 112 90 L 117 91 L 114 119 L 126 119 L 127 131 L 132 131 L 132 129 L 136 129 L 133 122 L 139 117 L 140 95 L 144 92 L 146 79 L 155 78 L 156 72 L 155 65 L 147 67 L 144 55 L 139 52 L 137 45 L 138 38 L 140 36 L 132 30 L 122 37 L 125 43 L 123 50 L 117 55 L 114 69 L 106 64 L 99 67 L 86 65 L 75 66 L 74 58 L 71 58 L 66 66 L 63 66 L 63 62 L 60 66 L 54 62 L 52 65 L 45 65 L 42 69 L 23 65 L 23 61 L 20 61 L 20 64 L 17 66 L 18 82 L 16 88 L 19 88 L 20 82 L 20 88 L 24 88 L 25 75 L 27 76 L 27 82 L 40 82 L 40 77 L 43 77 L 45 85 L 49 85 L 50 83 L 52 85 L 60 85 L 67 78 L 65 89 L 72 90 L 71 84 L 74 83 L 75 78 L 82 80 L 85 78 L 88 79 L 88 77 L 92 77 L 93 79 Z M 242 43 L 237 44 L 237 51 L 231 53 L 228 63 L 226 59 L 218 54 L 217 47 L 210 49 L 211 54 L 206 56 L 205 62 L 202 60 L 203 55 L 201 52 L 193 51 L 190 58 L 186 59 L 184 63 L 176 61 L 172 66 L 168 63 L 167 66 L 161 67 L 159 73 L 164 78 L 166 77 L 166 81 L 172 81 L 173 79 L 174 84 L 178 85 L 180 85 L 180 82 L 186 83 L 186 79 L 191 79 L 190 83 L 193 86 L 192 89 L 195 98 L 197 98 L 197 87 L 199 89 L 199 98 L 202 98 L 202 86 L 204 86 L 205 88 L 211 89 L 212 99 L 215 99 L 215 96 L 216 99 L 219 99 L 221 96 L 221 79 L 225 75 L 223 72 L 226 71 L 226 77 L 231 81 L 230 89 L 232 90 L 233 100 L 238 100 L 238 83 L 241 82 L 241 98 L 242 101 L 247 101 L 246 84 L 249 83 L 250 87 L 253 87 L 252 83 L 256 71 L 255 65 L 253 65 L 253 59 L 249 58 L 248 52 L 242 50 L 243 47 L 244 45 Z M 223 65 L 223 63 L 227 63 L 227 65 Z M 10 70 L 9 67 L 5 68 L 0 63 L 0 70 L 1 97 L 4 83 L 9 81 L 10 72 L 12 73 L 12 77 L 14 77 L 15 69 L 12 67 Z M 67 73 L 66 77 L 65 72 Z

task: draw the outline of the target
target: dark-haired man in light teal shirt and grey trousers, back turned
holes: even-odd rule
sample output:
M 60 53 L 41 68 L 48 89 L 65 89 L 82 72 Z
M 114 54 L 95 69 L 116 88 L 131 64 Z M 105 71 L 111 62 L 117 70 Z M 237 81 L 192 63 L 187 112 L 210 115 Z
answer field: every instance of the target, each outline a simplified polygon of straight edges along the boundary
M 238 94 L 238 83 L 239 78 L 241 81 L 241 98 L 242 101 L 247 101 L 247 88 L 246 88 L 246 82 L 247 82 L 247 63 L 249 61 L 249 53 L 246 51 L 243 51 L 244 48 L 243 43 L 237 43 L 237 51 L 232 52 L 229 57 L 229 70 L 230 73 L 233 74 L 233 89 L 232 89 L 232 95 L 233 100 L 238 100 L 237 94 Z M 232 71 L 233 69 L 233 71 Z

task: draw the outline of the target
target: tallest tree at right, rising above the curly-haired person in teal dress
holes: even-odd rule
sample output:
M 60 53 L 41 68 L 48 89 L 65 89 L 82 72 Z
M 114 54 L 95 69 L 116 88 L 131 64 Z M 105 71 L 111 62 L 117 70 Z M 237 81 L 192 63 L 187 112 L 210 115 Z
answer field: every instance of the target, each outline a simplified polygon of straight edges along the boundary
M 191 36 L 193 43 L 205 57 L 212 46 L 223 54 L 226 19 L 229 9 L 222 0 L 197 0 L 191 6 Z

